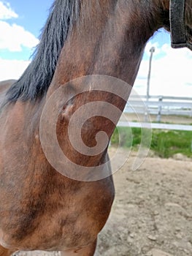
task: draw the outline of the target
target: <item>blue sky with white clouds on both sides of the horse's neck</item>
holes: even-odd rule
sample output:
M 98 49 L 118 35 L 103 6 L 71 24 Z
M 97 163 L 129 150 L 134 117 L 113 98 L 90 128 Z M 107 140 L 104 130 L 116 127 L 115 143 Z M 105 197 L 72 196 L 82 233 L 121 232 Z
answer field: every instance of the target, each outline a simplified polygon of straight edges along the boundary
M 53 0 L 0 0 L 0 80 L 18 79 L 31 60 Z M 150 48 L 153 53 L 150 95 L 192 97 L 192 52 L 172 49 L 170 35 L 157 31 L 146 45 L 134 89 L 147 91 Z

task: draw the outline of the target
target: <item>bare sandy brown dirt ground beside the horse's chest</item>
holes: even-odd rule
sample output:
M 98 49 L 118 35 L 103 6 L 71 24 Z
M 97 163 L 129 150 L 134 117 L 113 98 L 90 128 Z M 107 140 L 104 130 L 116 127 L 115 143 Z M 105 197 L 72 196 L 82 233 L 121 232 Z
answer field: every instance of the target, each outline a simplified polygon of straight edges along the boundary
M 110 148 L 114 154 L 115 148 Z M 121 149 L 121 161 L 127 151 Z M 99 234 L 96 256 L 192 255 L 192 161 L 147 157 L 131 170 L 135 154 L 114 175 L 116 197 Z M 20 252 L 22 256 L 58 252 Z

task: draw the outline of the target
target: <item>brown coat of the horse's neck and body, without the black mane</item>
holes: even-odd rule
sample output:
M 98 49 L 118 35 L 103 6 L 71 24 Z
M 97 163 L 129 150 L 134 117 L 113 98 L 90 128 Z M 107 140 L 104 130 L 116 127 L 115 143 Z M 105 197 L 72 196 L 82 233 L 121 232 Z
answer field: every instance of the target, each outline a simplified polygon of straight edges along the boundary
M 66 39 L 46 97 L 36 102 L 18 100 L 2 108 L 0 243 L 4 248 L 61 250 L 64 256 L 94 254 L 96 237 L 114 199 L 112 177 L 88 183 L 71 180 L 54 170 L 39 140 L 42 108 L 61 84 L 82 75 L 111 75 L 133 86 L 147 39 L 164 26 L 168 3 L 82 0 L 82 7 L 89 7 L 88 15 L 74 24 Z M 121 110 L 126 104 L 107 93 L 80 94 L 58 118 L 61 148 L 82 166 L 105 162 L 107 151 L 96 157 L 74 151 L 66 135 L 67 119 L 83 103 L 96 100 L 110 102 Z M 101 117 L 86 123 L 82 129 L 85 144 L 94 146 L 96 132 L 103 128 L 110 137 L 115 127 Z M 1 256 L 9 255 L 4 248 L 0 249 Z

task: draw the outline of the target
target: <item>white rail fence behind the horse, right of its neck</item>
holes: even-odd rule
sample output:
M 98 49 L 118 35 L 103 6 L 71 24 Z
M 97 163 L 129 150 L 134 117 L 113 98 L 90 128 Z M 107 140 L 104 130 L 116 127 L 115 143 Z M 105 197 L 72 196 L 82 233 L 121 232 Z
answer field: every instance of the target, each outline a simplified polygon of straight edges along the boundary
M 151 114 L 156 116 L 158 123 L 150 124 L 152 129 L 177 129 L 192 131 L 192 125 L 160 124 L 162 115 L 177 115 L 192 117 L 192 97 L 134 96 L 131 95 L 124 113 Z M 192 123 L 192 119 L 191 119 Z M 120 121 L 121 127 L 148 127 L 148 123 Z

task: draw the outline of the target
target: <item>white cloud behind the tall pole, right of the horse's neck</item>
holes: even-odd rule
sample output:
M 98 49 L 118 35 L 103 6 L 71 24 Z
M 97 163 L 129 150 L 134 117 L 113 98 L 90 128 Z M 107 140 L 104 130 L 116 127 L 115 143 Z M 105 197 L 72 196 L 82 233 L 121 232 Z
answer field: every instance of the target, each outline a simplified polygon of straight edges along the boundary
M 152 45 L 147 46 L 147 52 L 150 46 Z M 186 48 L 172 49 L 168 44 L 164 44 L 162 48 L 156 45 L 155 51 L 161 53 L 163 57 L 153 58 L 150 95 L 192 97 L 191 51 Z M 134 89 L 142 95 L 147 91 L 148 69 L 149 60 L 142 60 L 134 86 Z

